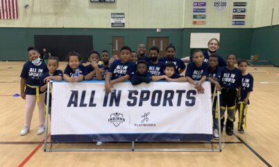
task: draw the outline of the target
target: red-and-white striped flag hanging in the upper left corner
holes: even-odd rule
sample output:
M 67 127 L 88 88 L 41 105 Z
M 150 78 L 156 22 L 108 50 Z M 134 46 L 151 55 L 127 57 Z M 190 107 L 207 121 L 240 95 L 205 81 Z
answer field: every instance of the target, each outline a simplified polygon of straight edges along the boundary
M 0 19 L 18 19 L 17 0 L 0 0 Z

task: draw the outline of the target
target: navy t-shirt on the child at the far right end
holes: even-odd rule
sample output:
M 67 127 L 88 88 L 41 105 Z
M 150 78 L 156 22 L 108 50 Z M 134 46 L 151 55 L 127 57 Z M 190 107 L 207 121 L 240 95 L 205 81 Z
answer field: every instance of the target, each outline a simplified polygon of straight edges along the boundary
M 244 99 L 247 97 L 248 92 L 253 91 L 253 76 L 251 74 L 242 75 L 242 91 L 240 95 L 240 102 L 243 102 Z M 249 104 L 249 101 L 248 101 Z

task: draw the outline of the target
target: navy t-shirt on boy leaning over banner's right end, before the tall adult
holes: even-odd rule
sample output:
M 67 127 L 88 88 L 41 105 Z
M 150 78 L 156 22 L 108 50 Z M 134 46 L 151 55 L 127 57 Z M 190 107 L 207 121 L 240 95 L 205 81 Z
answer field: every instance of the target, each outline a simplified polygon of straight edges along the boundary
M 187 65 L 185 77 L 190 77 L 194 80 L 201 80 L 203 76 L 208 77 L 208 63 L 203 62 L 201 67 L 197 67 L 194 62 Z

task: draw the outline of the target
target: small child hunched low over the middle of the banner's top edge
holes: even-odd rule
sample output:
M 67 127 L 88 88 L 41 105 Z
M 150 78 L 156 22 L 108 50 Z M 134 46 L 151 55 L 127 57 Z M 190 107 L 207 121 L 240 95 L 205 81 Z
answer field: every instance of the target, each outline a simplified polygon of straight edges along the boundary
M 147 67 L 146 61 L 137 62 L 137 71 L 130 79 L 132 85 L 142 84 L 142 82 L 149 84 L 152 81 L 152 75 L 150 72 L 147 72 Z

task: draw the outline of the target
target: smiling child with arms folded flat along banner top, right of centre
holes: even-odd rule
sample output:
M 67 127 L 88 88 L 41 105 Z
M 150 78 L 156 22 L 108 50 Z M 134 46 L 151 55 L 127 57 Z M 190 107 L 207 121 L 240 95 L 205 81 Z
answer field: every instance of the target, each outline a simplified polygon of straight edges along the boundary
M 174 63 L 166 63 L 164 65 L 164 75 L 153 76 L 152 81 L 166 80 L 166 81 L 176 81 L 185 82 L 187 79 L 180 74 L 176 73 L 176 65 Z

